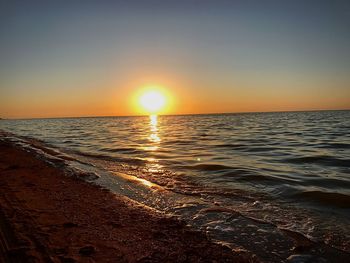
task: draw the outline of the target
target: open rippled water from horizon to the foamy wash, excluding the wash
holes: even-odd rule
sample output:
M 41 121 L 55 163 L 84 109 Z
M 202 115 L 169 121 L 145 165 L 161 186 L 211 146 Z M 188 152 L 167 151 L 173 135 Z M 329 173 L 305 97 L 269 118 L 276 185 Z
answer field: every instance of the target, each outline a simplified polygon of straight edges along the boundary
M 350 111 L 2 120 L 0 129 L 305 235 L 339 231 L 328 238 L 349 245 Z

